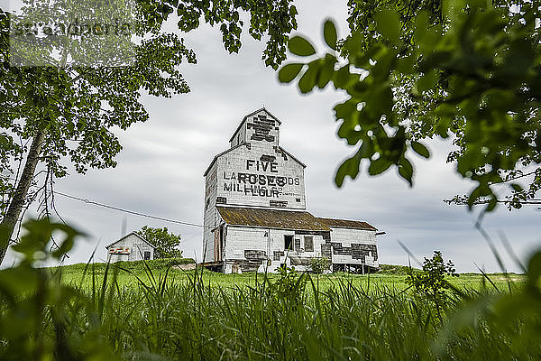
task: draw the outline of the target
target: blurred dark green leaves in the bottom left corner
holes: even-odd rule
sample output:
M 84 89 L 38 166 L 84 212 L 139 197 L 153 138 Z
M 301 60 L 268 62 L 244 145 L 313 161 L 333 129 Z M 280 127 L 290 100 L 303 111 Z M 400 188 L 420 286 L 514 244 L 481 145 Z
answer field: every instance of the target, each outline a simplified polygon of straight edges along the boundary
M 101 335 L 96 303 L 77 288 L 62 284 L 60 272 L 39 268 L 60 260 L 81 234 L 72 227 L 29 220 L 14 251 L 21 262 L 0 271 L 2 359 L 111 359 Z M 57 246 L 52 248 L 51 242 Z

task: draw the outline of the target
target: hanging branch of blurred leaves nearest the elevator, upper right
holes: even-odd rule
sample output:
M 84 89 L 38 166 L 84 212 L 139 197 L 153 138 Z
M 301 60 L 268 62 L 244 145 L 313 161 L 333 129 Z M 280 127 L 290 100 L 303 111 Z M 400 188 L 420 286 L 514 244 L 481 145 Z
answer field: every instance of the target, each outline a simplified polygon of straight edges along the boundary
M 280 69 L 279 79 L 289 82 L 301 74 L 298 88 L 302 93 L 308 93 L 315 87 L 325 88 L 332 81 L 336 89 L 344 89 L 350 96 L 347 101 L 335 106 L 336 119 L 343 121 L 338 136 L 346 139 L 350 145 L 361 143 L 361 146 L 336 171 L 336 184 L 342 186 L 346 175 L 355 178 L 363 159 L 370 161 L 368 171 L 371 175 L 387 171 L 394 164 L 398 166 L 400 176 L 411 184 L 413 165 L 408 161 L 406 151 L 413 149 L 423 157 L 428 157 L 429 152 L 424 144 L 408 140 L 405 128 L 392 112 L 393 93 L 389 72 L 396 52 L 384 51 L 378 46 L 368 54 L 357 55 L 353 64 L 347 62 L 342 65 L 336 52 L 335 25 L 331 21 L 326 21 L 324 25 L 324 38 L 332 52 L 307 64 L 285 65 Z M 316 54 L 312 44 L 300 36 L 291 38 L 289 51 L 298 56 Z M 376 55 L 381 60 L 372 60 Z M 351 65 L 362 71 L 353 71 Z M 372 76 L 366 77 L 367 69 L 372 69 Z

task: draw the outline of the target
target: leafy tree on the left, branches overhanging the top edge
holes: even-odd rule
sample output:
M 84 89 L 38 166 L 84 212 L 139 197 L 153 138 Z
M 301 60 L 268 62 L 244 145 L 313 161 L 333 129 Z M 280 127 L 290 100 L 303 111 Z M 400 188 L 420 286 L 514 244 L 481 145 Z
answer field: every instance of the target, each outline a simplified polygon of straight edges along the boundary
M 80 173 L 115 166 L 115 155 L 122 149 L 115 132 L 149 117 L 142 106 L 143 93 L 171 97 L 189 91 L 179 65 L 182 61 L 195 63 L 195 54 L 179 34 L 161 29 L 173 11 L 179 18 L 179 30 L 185 32 L 197 28 L 201 17 L 206 23 L 220 25 L 230 52 L 240 48 L 243 21 L 239 12 L 248 12 L 252 37 L 270 35 L 263 59 L 272 67 L 285 58 L 287 34 L 297 26 L 297 11 L 289 0 L 242 4 L 177 0 L 23 3 L 19 17 L 0 9 L 0 263 L 24 208 L 41 192 L 44 214 L 48 215 L 53 180 L 66 176 L 69 165 Z M 103 42 L 97 45 L 97 39 L 84 37 L 71 26 L 81 17 L 100 15 L 107 19 L 106 6 L 117 11 L 119 4 L 132 6 L 128 6 L 128 15 L 133 15 L 134 26 L 121 40 L 122 50 L 132 51 L 128 64 L 117 48 L 105 42 L 104 49 Z M 21 19 L 26 23 L 17 24 Z M 50 46 L 23 47 L 20 52 L 10 48 L 18 32 L 22 32 L 23 44 L 41 45 L 43 37 L 36 35 L 36 24 L 59 21 L 61 26 L 57 23 L 56 28 L 61 32 L 44 37 Z M 26 26 L 28 22 L 31 26 Z M 94 34 L 103 35 L 103 29 L 101 25 L 93 28 Z M 112 27 L 107 25 L 106 29 Z M 96 59 L 97 49 L 116 62 Z M 29 57 L 40 60 L 39 66 L 28 63 Z M 39 180 L 38 174 L 44 179 Z

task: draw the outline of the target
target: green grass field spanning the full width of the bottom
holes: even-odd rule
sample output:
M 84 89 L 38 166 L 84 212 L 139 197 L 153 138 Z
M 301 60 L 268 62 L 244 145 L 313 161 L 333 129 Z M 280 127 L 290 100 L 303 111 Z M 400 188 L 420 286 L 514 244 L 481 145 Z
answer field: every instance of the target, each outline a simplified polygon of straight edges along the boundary
M 390 265 L 366 275 L 221 274 L 184 272 L 157 260 L 37 274 L 43 282 L 29 299 L 0 307 L 1 359 L 541 356 L 539 300 L 525 292 L 531 284 L 520 274 L 461 274 L 449 280 L 457 291 L 447 291 L 437 307 L 409 286 L 404 267 Z M 0 288 L 6 279 L 0 277 Z

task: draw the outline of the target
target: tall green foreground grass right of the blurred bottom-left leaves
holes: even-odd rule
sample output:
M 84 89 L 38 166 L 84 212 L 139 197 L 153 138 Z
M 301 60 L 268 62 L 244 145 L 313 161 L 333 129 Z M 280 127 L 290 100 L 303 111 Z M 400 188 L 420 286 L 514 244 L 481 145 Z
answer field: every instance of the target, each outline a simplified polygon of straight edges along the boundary
M 105 298 L 110 301 L 103 309 L 102 331 L 114 353 L 125 359 L 153 355 L 185 360 L 527 359 L 541 355 L 538 343 L 517 346 L 517 339 L 527 337 L 522 319 L 502 333 L 497 320 L 474 312 L 455 329 L 457 318 L 463 317 L 460 310 L 481 300 L 489 302 L 497 297 L 496 291 L 450 294 L 442 323 L 429 299 L 382 282 L 353 282 L 354 277 L 337 275 L 320 277 L 318 287 L 317 279 L 296 273 L 260 275 L 257 282 L 254 274 L 243 275 L 249 276 L 253 283 L 241 286 L 217 285 L 215 274 L 197 271 L 170 282 L 161 278 L 164 282 L 155 287 L 142 283 L 107 287 Z M 488 306 L 481 301 L 478 307 Z

